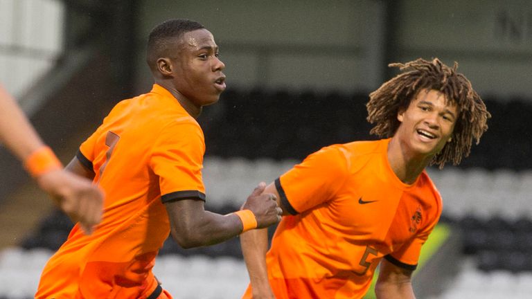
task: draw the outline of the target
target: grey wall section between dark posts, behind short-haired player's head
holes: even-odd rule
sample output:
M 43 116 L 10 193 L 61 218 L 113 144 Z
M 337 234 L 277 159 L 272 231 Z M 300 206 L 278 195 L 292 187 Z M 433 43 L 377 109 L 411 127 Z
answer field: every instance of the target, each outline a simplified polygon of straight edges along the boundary
M 382 76 L 379 1 L 144 1 L 139 41 L 171 17 L 204 24 L 220 46 L 228 84 L 355 90 Z M 143 53 L 143 52 L 142 52 Z M 141 82 L 149 76 L 144 62 Z

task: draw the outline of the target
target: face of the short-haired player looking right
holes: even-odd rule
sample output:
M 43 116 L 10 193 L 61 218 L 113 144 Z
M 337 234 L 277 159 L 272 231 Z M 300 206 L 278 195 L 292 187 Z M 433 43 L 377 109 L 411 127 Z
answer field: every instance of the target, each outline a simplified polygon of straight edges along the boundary
M 218 46 L 206 29 L 184 33 L 170 55 L 172 84 L 195 107 L 211 105 L 225 90 L 225 64 L 218 58 Z

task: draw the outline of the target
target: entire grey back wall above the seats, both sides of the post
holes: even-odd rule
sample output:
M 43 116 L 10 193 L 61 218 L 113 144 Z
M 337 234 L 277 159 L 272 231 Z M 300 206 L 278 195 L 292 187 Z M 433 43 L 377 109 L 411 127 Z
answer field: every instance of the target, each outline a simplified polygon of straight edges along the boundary
M 388 2 L 390 3 L 390 2 Z M 371 91 L 386 64 L 459 62 L 481 95 L 532 98 L 532 1 L 141 1 L 151 28 L 178 17 L 214 34 L 233 87 Z M 392 34 L 389 36 L 389 34 Z M 151 78 L 139 60 L 137 89 Z

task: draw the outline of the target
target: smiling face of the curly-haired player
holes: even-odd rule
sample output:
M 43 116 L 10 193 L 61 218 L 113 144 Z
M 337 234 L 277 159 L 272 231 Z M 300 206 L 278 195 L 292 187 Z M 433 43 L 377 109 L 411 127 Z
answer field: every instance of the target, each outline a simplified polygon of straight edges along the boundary
M 434 156 L 452 138 L 459 111 L 445 95 L 423 89 L 406 110 L 399 111 L 400 125 L 394 137 L 420 155 Z

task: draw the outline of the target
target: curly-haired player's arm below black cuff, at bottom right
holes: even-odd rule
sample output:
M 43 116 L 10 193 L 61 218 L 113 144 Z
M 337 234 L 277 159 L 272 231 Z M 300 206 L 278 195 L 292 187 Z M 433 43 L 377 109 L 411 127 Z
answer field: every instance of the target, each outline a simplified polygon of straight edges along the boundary
M 412 272 L 383 259 L 380 262 L 379 278 L 375 284 L 377 298 L 415 299 L 411 283 Z

